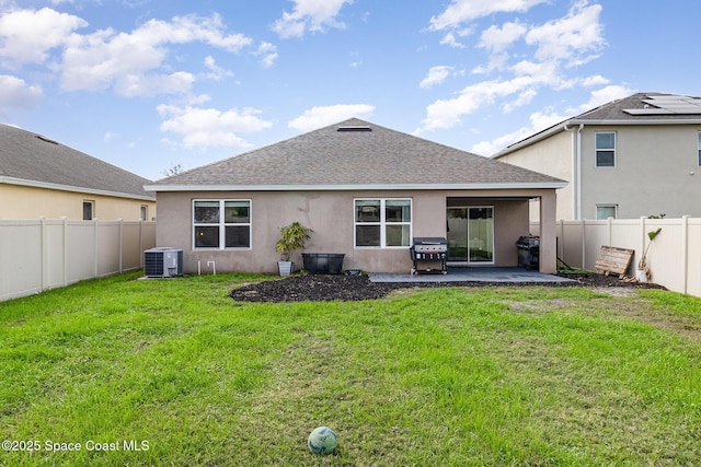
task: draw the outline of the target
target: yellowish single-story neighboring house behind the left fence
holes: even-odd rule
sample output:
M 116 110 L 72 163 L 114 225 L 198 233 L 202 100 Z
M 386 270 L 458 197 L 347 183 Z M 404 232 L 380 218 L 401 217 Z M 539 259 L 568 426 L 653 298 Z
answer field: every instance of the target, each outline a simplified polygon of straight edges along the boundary
M 152 220 L 150 180 L 31 131 L 0 125 L 0 219 Z

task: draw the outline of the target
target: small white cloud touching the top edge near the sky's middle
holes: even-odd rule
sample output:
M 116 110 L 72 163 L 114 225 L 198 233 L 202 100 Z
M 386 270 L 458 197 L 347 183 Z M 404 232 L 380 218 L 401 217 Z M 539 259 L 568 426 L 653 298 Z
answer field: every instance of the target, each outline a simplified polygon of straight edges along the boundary
M 280 37 L 301 37 L 307 31 L 322 33 L 324 27 L 344 28 L 345 24 L 336 20 L 344 4 L 353 0 L 292 0 L 291 13 L 283 12 L 283 17 L 272 25 Z

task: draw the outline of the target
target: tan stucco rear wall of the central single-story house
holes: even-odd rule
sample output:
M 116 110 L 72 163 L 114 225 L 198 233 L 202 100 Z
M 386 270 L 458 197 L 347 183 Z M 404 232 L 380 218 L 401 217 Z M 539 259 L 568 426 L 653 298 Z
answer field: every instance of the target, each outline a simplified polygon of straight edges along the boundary
M 528 198 L 541 196 L 545 206 L 554 207 L 553 189 L 544 190 L 378 190 L 378 191 L 198 191 L 158 194 L 160 217 L 157 224 L 157 245 L 183 249 L 183 270 L 186 273 L 211 271 L 246 271 L 275 273 L 279 253 L 275 252 L 279 227 L 298 221 L 313 233 L 304 252 L 345 254 L 344 269 L 371 272 L 409 272 L 412 267 L 407 248 L 355 248 L 354 199 L 411 198 L 412 236 L 446 236 L 447 200 L 460 199 L 464 206 L 494 206 L 495 265 L 517 266 L 515 242 L 528 233 Z M 508 199 L 498 199 L 508 197 Z M 193 249 L 193 201 L 196 199 L 250 199 L 250 249 Z M 549 232 L 553 215 L 544 220 Z M 555 270 L 555 242 L 541 246 L 541 270 Z M 292 260 L 301 265 L 296 254 Z

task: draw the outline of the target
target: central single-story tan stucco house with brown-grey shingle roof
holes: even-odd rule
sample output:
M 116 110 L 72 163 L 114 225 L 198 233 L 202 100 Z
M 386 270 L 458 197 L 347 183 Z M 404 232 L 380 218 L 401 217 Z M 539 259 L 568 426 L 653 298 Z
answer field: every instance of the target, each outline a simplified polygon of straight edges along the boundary
M 279 229 L 313 230 L 308 253 L 344 269 L 409 272 L 414 236 L 447 237 L 462 266 L 517 266 L 530 199 L 541 200 L 541 261 L 556 269 L 563 180 L 350 119 L 154 182 L 157 245 L 186 272 L 275 272 Z M 294 258 L 299 261 L 299 257 Z

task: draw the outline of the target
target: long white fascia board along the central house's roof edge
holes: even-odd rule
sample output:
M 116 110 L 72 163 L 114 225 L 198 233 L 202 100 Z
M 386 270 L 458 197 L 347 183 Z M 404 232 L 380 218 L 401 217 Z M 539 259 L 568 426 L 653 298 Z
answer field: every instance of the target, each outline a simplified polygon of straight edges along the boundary
M 367 191 L 367 190 L 474 190 L 559 189 L 567 182 L 503 184 L 368 184 L 368 185 L 147 185 L 147 191 Z

